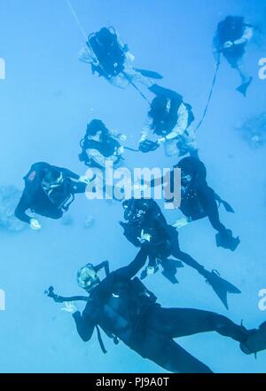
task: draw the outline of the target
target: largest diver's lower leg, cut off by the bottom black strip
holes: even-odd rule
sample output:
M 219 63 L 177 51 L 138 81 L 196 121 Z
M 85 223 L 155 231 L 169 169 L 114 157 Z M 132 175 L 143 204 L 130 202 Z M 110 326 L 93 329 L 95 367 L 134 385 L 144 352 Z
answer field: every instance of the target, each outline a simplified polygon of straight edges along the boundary
M 211 373 L 204 363 L 190 355 L 176 344 L 173 339 L 165 337 L 160 332 L 147 329 L 138 353 L 161 368 L 179 373 Z

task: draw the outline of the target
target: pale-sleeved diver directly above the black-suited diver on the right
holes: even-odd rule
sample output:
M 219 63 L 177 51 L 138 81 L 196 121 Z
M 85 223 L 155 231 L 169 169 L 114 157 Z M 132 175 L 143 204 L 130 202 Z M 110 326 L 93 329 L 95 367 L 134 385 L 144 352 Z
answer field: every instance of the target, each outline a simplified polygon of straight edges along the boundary
M 139 140 L 139 149 L 150 152 L 164 145 L 167 156 L 198 156 L 195 135 L 191 124 L 194 121 L 192 107 L 184 103 L 177 92 L 153 84 L 149 90 L 156 97 L 153 99 L 148 118 Z M 153 133 L 156 140 L 149 140 Z

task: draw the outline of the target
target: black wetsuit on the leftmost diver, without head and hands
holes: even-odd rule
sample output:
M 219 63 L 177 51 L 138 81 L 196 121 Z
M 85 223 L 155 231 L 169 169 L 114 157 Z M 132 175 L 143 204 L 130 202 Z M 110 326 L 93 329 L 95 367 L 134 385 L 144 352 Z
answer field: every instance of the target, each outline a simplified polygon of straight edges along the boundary
M 63 174 L 63 183 L 56 188 L 49 196 L 42 186 L 43 176 L 47 170 L 57 170 Z M 66 168 L 51 166 L 47 163 L 36 163 L 30 168 L 25 180 L 25 189 L 20 198 L 15 216 L 21 221 L 30 223 L 30 217 L 26 214 L 27 210 L 34 211 L 37 214 L 50 219 L 60 219 L 64 213 L 64 205 L 70 197 L 76 193 L 84 193 L 86 185 L 77 182 L 79 175 L 67 170 Z

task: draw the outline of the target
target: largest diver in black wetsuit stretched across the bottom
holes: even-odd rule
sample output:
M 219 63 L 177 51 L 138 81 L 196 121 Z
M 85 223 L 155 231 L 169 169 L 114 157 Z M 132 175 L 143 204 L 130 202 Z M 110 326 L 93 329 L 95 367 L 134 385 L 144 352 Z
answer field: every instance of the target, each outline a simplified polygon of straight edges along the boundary
M 201 332 L 216 331 L 224 337 L 240 343 L 240 349 L 251 355 L 266 349 L 266 322 L 258 329 L 247 330 L 243 325 L 233 323 L 226 316 L 194 308 L 160 307 L 152 291 L 148 291 L 136 277 L 144 267 L 149 252 L 149 237 L 141 237 L 141 250 L 126 267 L 120 267 L 108 274 L 106 262 L 98 267 L 88 264 L 77 274 L 77 282 L 87 296 L 70 298 L 59 296 L 51 286 L 46 293 L 58 303 L 65 302 L 62 309 L 74 318 L 76 330 L 84 342 L 91 339 L 94 330 L 104 353 L 106 348 L 100 329 L 113 339 L 121 340 L 138 355 L 147 358 L 161 368 L 171 372 L 211 373 L 183 347 L 176 338 Z M 99 269 L 106 268 L 106 277 L 99 278 Z M 86 301 L 81 312 L 74 305 L 75 300 Z

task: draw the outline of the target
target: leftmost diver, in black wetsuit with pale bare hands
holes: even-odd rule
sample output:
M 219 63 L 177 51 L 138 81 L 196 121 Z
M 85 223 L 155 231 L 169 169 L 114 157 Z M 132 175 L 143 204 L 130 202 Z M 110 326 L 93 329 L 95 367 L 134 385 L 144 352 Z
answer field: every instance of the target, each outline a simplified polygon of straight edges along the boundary
M 50 219 L 60 219 L 74 201 L 74 195 L 85 193 L 90 180 L 66 168 L 40 162 L 31 166 L 24 177 L 25 189 L 15 216 L 34 230 L 41 229 L 38 219 L 29 217 L 29 209 Z

